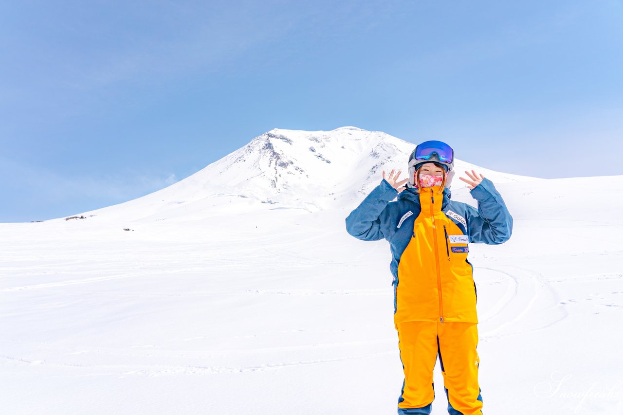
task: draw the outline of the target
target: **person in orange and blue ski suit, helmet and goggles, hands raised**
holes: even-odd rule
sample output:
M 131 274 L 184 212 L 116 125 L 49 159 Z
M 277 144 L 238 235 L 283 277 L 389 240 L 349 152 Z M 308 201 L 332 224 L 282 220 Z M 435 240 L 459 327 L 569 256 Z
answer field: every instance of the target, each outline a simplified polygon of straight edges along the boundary
M 383 172 L 381 184 L 346 218 L 349 234 L 362 241 L 386 239 L 391 248 L 394 326 L 404 368 L 402 415 L 430 414 L 437 356 L 448 413 L 482 415 L 477 290 L 468 243 L 508 241 L 513 218 L 493 183 L 475 171 L 461 179 L 478 209 L 451 201 L 453 166 L 450 146 L 426 141 L 409 158 L 408 179 L 398 181 L 400 171 L 388 178 Z

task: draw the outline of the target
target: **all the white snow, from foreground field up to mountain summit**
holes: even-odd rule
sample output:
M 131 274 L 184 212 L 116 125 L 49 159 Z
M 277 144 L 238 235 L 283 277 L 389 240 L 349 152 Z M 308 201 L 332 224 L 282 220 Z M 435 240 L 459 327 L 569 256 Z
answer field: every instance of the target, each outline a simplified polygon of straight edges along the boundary
M 0 224 L 0 413 L 395 414 L 389 245 L 344 220 L 413 148 L 275 129 L 84 219 Z M 623 176 L 455 169 L 515 219 L 470 245 L 483 413 L 623 414 Z M 435 391 L 445 414 L 439 364 Z

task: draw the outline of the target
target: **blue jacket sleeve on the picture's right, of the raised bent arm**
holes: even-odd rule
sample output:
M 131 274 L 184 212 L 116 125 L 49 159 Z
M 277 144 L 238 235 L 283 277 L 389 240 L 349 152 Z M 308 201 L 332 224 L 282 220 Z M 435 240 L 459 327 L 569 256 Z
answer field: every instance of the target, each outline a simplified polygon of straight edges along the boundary
M 493 182 L 485 178 L 470 193 L 478 201 L 478 210 L 468 206 L 465 218 L 470 242 L 497 245 L 508 241 L 513 232 L 513 217 Z

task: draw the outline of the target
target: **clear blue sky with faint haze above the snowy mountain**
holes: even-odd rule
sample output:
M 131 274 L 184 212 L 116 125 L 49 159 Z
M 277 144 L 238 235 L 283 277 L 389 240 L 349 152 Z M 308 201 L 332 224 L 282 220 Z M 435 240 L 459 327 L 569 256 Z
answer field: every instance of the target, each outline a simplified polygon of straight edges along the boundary
M 143 196 L 272 128 L 623 174 L 621 0 L 4 1 L 0 54 L 0 222 Z

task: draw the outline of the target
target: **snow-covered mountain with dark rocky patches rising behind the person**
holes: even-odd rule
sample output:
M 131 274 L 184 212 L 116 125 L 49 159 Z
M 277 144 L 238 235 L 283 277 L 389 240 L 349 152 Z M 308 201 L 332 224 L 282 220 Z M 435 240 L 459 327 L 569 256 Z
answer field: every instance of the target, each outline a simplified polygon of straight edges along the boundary
M 379 183 L 383 170 L 403 169 L 402 177 L 406 177 L 414 147 L 386 133 L 355 127 L 333 131 L 275 128 L 166 189 L 97 213 L 164 219 L 180 209 L 180 214 L 197 218 L 231 209 L 262 208 L 259 204 L 310 212 L 354 206 Z M 477 169 L 495 183 L 533 179 L 460 160 L 455 161 L 455 169 Z M 467 194 L 459 179 L 452 189 L 459 192 L 457 197 Z

